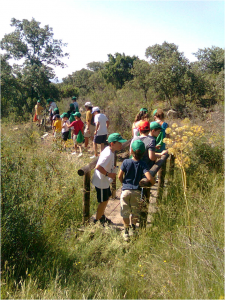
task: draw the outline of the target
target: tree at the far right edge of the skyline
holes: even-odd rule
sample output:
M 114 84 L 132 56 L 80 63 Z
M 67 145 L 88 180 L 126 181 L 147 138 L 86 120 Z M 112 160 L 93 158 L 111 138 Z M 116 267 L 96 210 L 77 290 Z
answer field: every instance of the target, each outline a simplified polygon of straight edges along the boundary
M 198 59 L 198 66 L 203 72 L 219 74 L 224 70 L 224 49 L 212 46 L 198 49 L 193 53 Z

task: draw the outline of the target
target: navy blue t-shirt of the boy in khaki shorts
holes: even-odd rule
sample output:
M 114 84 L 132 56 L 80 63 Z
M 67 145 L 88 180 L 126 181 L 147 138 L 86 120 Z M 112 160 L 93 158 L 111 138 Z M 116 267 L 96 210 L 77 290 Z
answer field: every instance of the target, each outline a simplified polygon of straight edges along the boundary
M 143 174 L 149 172 L 148 166 L 142 160 L 125 159 L 120 167 L 125 173 L 122 190 L 140 190 L 139 181 Z

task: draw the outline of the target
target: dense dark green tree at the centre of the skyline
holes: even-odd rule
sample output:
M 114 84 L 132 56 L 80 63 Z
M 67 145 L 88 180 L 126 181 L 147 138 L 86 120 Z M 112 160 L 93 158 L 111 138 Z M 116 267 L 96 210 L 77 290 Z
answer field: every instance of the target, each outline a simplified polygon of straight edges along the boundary
M 117 89 L 121 89 L 126 81 L 133 79 L 131 69 L 137 56 L 126 56 L 124 53 L 108 54 L 108 62 L 101 71 L 107 83 L 112 83 Z

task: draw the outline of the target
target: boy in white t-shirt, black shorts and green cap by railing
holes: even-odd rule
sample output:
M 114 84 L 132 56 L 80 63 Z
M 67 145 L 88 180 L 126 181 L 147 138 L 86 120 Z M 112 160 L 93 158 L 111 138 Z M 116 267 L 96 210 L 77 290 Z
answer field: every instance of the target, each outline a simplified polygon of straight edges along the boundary
M 109 197 L 112 195 L 110 191 L 110 179 L 116 178 L 114 169 L 114 152 L 122 148 L 122 143 L 126 142 L 119 133 L 112 133 L 108 137 L 109 146 L 107 146 L 100 154 L 97 161 L 92 184 L 95 186 L 97 192 L 98 208 L 94 223 L 100 221 L 104 223 L 111 223 L 104 215 Z

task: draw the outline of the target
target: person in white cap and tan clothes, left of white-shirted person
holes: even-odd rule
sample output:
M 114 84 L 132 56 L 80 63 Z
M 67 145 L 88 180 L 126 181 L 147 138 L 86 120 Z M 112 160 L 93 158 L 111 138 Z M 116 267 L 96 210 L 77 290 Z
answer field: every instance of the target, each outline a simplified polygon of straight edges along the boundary
M 84 104 L 86 109 L 86 126 L 84 130 L 84 139 L 85 139 L 85 149 L 87 149 L 89 138 L 92 140 L 94 139 L 94 132 L 95 132 L 95 123 L 94 123 L 94 116 L 92 114 L 92 103 L 86 102 Z

